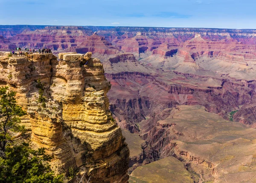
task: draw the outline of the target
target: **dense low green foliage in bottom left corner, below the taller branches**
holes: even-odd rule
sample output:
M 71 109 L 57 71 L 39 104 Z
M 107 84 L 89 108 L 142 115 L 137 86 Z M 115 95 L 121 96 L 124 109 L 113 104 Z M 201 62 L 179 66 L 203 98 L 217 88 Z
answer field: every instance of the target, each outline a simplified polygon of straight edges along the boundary
M 44 148 L 37 151 L 29 144 L 8 146 L 6 157 L 0 157 L 1 183 L 63 183 L 63 175 L 55 175 L 49 166 L 51 157 Z

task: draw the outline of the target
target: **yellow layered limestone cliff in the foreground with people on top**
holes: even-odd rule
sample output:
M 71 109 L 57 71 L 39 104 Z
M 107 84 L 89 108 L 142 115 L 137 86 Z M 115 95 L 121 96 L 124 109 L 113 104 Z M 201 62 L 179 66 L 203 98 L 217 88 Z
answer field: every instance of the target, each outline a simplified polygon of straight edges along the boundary
M 83 181 L 127 182 L 129 150 L 109 110 L 111 85 L 98 58 L 76 53 L 61 53 L 59 61 L 52 54 L 0 57 L 0 68 L 1 86 L 15 90 L 28 113 L 22 123 L 32 131 L 32 145 L 54 156 L 56 172 L 73 167 Z M 45 102 L 38 102 L 42 97 Z

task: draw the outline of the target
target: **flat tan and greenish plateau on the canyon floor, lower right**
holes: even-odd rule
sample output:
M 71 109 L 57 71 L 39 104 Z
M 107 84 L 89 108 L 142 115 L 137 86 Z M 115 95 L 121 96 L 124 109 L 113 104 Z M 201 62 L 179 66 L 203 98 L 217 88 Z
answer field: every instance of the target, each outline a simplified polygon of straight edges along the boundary
M 145 121 L 139 123 L 140 126 L 145 124 Z M 165 142 L 166 146 L 160 149 L 163 159 L 140 166 L 131 173 L 131 183 L 256 181 L 253 158 L 256 129 L 224 120 L 199 105 L 171 108 L 170 115 L 157 122 L 157 128 L 164 129 L 164 138 L 172 136 L 173 140 L 169 140 L 169 144 Z M 123 134 L 130 151 L 139 156 L 142 148 L 133 144 L 130 136 L 134 134 Z M 170 158 L 170 154 L 177 159 Z

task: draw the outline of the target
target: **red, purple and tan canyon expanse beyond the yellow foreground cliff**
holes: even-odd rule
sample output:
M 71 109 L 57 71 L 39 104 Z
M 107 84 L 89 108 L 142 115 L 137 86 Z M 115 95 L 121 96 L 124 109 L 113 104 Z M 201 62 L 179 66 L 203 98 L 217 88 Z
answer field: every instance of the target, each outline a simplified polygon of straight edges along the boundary
M 130 183 L 256 182 L 256 30 L 0 26 L 0 50 L 92 52 Z

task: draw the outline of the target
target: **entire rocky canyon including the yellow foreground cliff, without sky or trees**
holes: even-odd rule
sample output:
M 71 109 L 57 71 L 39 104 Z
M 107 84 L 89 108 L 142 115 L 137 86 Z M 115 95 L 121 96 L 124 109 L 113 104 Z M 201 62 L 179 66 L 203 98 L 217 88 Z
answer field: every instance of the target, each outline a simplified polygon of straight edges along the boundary
M 52 53 L 8 57 L 17 47 Z M 0 73 L 58 173 L 256 182 L 254 29 L 0 26 Z M 34 102 L 38 79 L 48 110 Z

